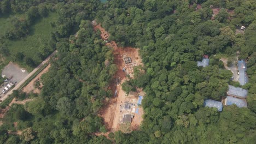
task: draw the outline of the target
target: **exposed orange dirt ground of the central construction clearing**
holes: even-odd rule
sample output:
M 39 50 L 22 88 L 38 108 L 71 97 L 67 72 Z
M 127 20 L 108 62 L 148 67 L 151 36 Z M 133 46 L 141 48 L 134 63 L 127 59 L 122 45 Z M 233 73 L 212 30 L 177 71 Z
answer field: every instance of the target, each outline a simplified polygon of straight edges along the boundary
M 132 47 L 119 47 L 115 41 L 107 41 L 109 33 L 106 32 L 105 29 L 101 27 L 101 25 L 96 25 L 94 27 L 95 31 L 97 31 L 97 29 L 101 31 L 101 38 L 106 40 L 106 45 L 113 49 L 114 64 L 116 64 L 118 67 L 118 70 L 113 77 L 114 79 L 109 86 L 109 89 L 111 89 L 113 92 L 113 97 L 105 100 L 105 105 L 99 112 L 99 115 L 104 119 L 104 124 L 106 125 L 108 131 L 116 131 L 118 130 L 120 123 L 120 105 L 124 103 L 125 99 L 127 99 L 125 92 L 121 88 L 121 83 L 127 80 L 127 74 L 129 74 L 131 77 L 133 76 L 133 67 L 142 65 L 142 59 L 139 56 L 139 49 Z M 132 63 L 125 64 L 124 57 L 131 57 Z M 126 68 L 125 72 L 123 71 L 123 68 Z M 117 81 L 120 81 L 120 83 Z M 133 130 L 137 129 L 136 127 L 139 127 L 143 120 L 142 107 L 141 110 L 139 110 L 139 114 L 141 115 L 135 116 L 135 121 L 132 121 Z M 96 135 L 106 134 L 97 133 Z

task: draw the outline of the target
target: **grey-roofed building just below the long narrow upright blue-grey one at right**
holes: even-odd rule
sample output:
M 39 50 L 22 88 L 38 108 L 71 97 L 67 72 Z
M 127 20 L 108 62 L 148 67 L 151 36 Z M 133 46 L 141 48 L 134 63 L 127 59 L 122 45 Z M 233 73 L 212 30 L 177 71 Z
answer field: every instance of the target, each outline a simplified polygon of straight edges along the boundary
M 247 98 L 248 91 L 241 87 L 234 87 L 229 85 L 229 91 L 227 92 L 228 95 L 238 98 Z

